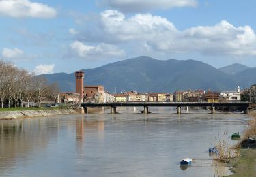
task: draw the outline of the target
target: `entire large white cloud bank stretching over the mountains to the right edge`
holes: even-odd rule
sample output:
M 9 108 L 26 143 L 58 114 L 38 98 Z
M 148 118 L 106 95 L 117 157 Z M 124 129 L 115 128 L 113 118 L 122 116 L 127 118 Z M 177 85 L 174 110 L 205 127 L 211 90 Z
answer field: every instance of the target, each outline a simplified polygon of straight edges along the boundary
M 117 10 L 106 10 L 99 19 L 100 25 L 85 28 L 76 39 L 115 44 L 126 50 L 134 48 L 132 52 L 144 51 L 143 54 L 151 50 L 165 54 L 256 55 L 253 29 L 247 25 L 235 27 L 226 20 L 180 31 L 166 18 L 152 14 L 135 14 L 127 18 Z

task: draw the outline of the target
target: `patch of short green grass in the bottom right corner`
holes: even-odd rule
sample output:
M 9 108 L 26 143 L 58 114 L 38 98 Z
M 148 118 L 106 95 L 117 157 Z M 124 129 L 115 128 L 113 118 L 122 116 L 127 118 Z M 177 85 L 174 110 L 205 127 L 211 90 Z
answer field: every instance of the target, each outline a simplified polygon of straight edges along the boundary
M 231 171 L 235 173 L 231 176 L 256 176 L 256 149 L 240 149 L 240 155 L 230 161 L 233 166 Z

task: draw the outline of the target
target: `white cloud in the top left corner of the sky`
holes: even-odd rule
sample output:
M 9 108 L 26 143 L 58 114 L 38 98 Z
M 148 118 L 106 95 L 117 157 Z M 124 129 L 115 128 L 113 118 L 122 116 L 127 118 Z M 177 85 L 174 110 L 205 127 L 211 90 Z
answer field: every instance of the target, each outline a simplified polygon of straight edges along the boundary
M 57 12 L 53 7 L 29 0 L 0 0 L 0 15 L 14 18 L 54 18 Z

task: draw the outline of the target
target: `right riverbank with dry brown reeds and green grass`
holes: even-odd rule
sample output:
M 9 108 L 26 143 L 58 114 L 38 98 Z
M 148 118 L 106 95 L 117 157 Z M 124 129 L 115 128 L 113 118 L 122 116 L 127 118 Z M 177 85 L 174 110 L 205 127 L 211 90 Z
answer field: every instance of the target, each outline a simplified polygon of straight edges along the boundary
M 240 157 L 231 159 L 230 161 L 231 166 L 233 166 L 231 169 L 234 173 L 231 175 L 233 177 L 256 176 L 256 148 L 246 146 L 248 137 L 256 137 L 256 112 L 250 112 L 249 114 L 253 117 L 253 120 L 249 121 L 248 129 L 244 131 L 242 140 L 238 144 L 238 146 L 243 147 L 239 150 Z

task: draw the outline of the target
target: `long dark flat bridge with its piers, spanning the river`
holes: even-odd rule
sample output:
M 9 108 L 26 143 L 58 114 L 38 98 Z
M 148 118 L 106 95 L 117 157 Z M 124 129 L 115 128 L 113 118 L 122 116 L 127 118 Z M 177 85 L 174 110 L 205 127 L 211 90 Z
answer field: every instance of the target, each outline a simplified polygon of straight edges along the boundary
M 113 103 L 81 103 L 81 107 L 84 108 L 85 113 L 87 113 L 87 108 L 94 107 L 110 107 L 111 114 L 117 113 L 117 107 L 143 107 L 143 112 L 145 114 L 149 113 L 149 107 L 176 107 L 177 114 L 180 114 L 182 107 L 210 107 L 211 112 L 215 112 L 215 108 L 220 107 L 241 107 L 244 112 L 248 112 L 248 107 L 250 103 L 248 102 L 219 102 L 219 103 L 197 103 L 197 102 L 113 102 Z

